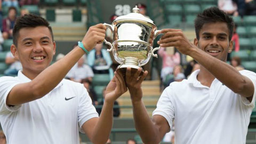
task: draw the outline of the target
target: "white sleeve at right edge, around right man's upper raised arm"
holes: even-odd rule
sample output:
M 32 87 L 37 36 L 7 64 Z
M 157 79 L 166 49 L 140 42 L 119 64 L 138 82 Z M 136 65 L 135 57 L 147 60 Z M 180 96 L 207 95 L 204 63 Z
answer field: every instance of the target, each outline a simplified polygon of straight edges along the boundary
M 253 73 L 252 71 L 249 71 L 249 70 L 241 70 L 239 71 L 243 76 L 246 76 L 248 77 L 249 79 L 251 79 L 252 83 L 253 83 L 253 86 L 254 86 L 254 92 L 253 92 L 253 98 L 252 98 L 252 101 L 250 102 L 247 98 L 245 97 L 242 97 L 242 101 L 244 103 L 244 105 L 247 105 L 247 106 L 253 106 L 254 107 L 254 103 L 255 103 L 255 90 L 256 90 L 256 74 Z

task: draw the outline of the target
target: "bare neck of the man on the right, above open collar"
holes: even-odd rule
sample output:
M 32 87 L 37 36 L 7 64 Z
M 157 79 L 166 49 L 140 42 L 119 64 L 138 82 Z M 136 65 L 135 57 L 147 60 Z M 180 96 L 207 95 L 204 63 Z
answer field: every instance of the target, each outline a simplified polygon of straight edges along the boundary
M 215 77 L 203 66 L 200 67 L 197 80 L 204 86 L 210 87 Z

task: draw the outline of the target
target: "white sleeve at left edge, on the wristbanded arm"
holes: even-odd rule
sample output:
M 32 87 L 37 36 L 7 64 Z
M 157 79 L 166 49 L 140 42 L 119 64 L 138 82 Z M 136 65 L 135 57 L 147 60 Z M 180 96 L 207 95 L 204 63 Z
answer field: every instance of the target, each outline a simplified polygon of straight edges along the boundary
M 17 111 L 21 105 L 17 106 L 7 106 L 6 105 L 6 98 L 12 88 L 19 84 L 17 80 L 15 80 L 14 77 L 10 76 L 4 76 L 0 78 L 0 115 L 4 113 L 10 113 L 13 111 Z

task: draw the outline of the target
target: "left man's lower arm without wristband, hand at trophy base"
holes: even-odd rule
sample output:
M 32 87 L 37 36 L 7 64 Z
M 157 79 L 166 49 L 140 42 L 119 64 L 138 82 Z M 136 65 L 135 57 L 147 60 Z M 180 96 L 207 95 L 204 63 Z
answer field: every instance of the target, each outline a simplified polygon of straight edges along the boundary
M 114 78 L 106 88 L 105 102 L 99 118 L 92 118 L 83 124 L 83 130 L 89 139 L 97 144 L 106 143 L 113 125 L 113 106 L 115 100 L 127 91 L 121 73 L 115 72 Z

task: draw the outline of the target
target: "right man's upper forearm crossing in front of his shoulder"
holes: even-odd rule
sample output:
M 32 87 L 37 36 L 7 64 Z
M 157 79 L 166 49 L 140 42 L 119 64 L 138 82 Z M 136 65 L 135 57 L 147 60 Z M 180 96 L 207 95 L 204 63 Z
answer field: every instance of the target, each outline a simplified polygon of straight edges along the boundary
M 243 89 L 245 83 L 244 76 L 234 67 L 212 57 L 200 49 L 194 49 L 189 55 L 232 91 L 239 92 Z

